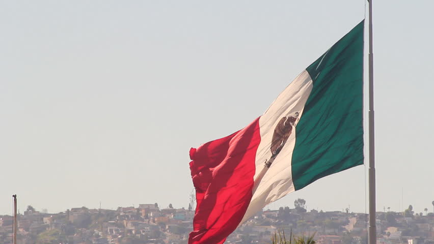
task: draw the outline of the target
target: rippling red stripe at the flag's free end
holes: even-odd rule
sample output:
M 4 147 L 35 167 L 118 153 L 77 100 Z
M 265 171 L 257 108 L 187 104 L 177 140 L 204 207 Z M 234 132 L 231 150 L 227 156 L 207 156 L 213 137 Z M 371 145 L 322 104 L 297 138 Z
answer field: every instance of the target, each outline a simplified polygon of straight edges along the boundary
M 189 244 L 221 244 L 241 222 L 252 199 L 259 118 L 234 134 L 190 150 L 196 214 Z

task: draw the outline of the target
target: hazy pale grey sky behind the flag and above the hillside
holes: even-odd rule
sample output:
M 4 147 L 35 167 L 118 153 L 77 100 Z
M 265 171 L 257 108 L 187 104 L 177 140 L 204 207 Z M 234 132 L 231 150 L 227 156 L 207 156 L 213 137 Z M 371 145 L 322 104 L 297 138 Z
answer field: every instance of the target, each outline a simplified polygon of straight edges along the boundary
M 374 2 L 378 210 L 432 210 L 432 9 Z M 187 207 L 189 148 L 261 115 L 364 13 L 362 0 L 2 1 L 0 214 L 12 194 L 21 212 Z M 364 212 L 365 167 L 269 207 L 296 198 Z

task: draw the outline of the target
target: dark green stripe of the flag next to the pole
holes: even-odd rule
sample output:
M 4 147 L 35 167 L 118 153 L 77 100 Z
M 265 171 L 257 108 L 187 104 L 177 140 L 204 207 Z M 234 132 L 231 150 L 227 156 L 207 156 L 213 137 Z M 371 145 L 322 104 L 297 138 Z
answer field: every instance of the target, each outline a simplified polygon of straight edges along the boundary
M 296 127 L 295 190 L 363 164 L 363 30 L 364 21 L 306 69 L 313 89 Z

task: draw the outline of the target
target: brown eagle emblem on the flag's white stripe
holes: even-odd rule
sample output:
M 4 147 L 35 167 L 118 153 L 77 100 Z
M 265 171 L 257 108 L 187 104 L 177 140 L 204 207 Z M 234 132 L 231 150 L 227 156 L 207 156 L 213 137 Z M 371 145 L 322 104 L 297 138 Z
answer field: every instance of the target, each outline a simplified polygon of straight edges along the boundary
M 274 159 L 282 150 L 286 141 L 292 133 L 292 128 L 295 127 L 296 121 L 299 118 L 299 112 L 295 112 L 294 115 L 288 115 L 282 117 L 277 123 L 276 128 L 274 129 L 272 143 L 270 146 L 270 151 L 272 153 L 272 157 L 269 160 L 265 161 L 265 165 L 269 168 L 273 163 Z

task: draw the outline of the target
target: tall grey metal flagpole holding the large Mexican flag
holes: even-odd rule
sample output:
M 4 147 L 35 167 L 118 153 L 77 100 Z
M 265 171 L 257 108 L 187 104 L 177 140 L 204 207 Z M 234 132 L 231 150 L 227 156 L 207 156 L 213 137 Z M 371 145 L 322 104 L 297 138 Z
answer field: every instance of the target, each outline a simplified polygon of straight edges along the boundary
M 369 244 L 376 244 L 376 226 L 375 226 L 375 143 L 374 143 L 374 54 L 372 51 L 372 1 L 369 2 Z

